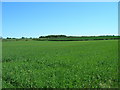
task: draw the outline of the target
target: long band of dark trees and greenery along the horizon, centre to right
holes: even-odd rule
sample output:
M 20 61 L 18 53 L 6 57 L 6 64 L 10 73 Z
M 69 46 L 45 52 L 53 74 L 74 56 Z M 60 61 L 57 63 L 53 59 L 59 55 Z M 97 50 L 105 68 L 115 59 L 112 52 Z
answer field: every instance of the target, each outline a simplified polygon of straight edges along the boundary
M 65 36 L 65 35 L 48 35 L 33 39 L 38 41 L 88 41 L 88 40 L 114 40 L 120 39 L 120 36 Z

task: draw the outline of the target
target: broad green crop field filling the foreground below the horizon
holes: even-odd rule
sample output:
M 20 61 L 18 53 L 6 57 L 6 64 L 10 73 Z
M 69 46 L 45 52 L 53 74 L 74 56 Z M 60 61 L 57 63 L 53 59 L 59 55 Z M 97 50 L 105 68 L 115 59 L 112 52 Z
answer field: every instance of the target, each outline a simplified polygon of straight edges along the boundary
M 116 88 L 118 40 L 4 41 L 3 88 Z

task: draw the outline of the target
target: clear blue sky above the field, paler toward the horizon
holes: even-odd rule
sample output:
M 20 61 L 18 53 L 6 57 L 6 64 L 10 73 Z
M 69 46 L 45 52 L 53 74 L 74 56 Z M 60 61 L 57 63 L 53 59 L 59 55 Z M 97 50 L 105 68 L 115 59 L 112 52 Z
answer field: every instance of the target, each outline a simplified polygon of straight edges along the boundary
M 118 34 L 117 2 L 3 2 L 3 37 Z

